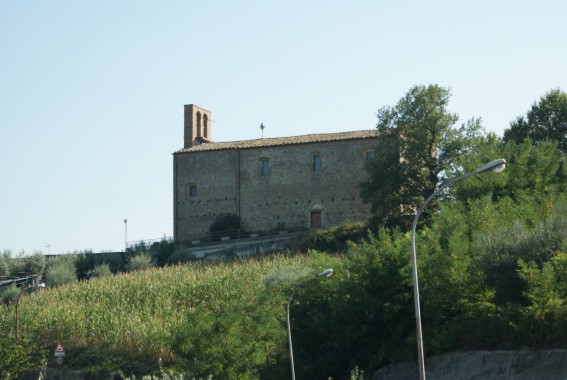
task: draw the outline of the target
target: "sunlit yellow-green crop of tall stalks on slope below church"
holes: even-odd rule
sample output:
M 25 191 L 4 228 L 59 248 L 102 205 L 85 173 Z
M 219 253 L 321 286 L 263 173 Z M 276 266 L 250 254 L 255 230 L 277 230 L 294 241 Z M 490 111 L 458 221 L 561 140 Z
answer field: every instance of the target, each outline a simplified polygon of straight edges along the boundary
M 200 319 L 218 318 L 235 300 L 240 310 L 276 308 L 283 320 L 277 287 L 269 290 L 272 296 L 262 296 L 268 291 L 266 279 L 282 270 L 318 273 L 322 268 L 317 265 L 313 256 L 282 255 L 94 277 L 22 298 L 19 325 L 46 346 L 61 341 L 68 352 L 97 348 L 146 357 L 156 365 L 159 359 L 171 363 L 178 331 L 199 325 Z M 1 307 L 0 330 L 9 333 L 14 323 L 12 308 Z

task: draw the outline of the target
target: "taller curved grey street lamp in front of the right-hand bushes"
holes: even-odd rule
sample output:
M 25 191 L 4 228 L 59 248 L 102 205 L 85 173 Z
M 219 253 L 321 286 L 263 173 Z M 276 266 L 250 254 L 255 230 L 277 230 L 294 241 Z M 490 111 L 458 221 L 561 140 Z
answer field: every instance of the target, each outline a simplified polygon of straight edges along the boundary
M 420 312 L 420 307 L 419 307 L 419 285 L 418 285 L 418 281 L 417 281 L 417 260 L 416 260 L 416 256 L 415 256 L 415 228 L 417 226 L 417 221 L 421 215 L 421 213 L 423 212 L 423 210 L 425 210 L 425 208 L 427 207 L 427 205 L 429 204 L 429 202 L 431 202 L 431 200 L 433 198 L 435 198 L 439 193 L 441 193 L 443 190 L 445 190 L 446 188 L 448 188 L 449 186 L 462 181 L 463 179 L 472 177 L 474 175 L 492 170 L 493 172 L 499 173 L 502 170 L 504 170 L 504 168 L 506 167 L 506 160 L 504 159 L 499 159 L 499 160 L 494 160 L 492 162 L 489 162 L 486 165 L 481 166 L 480 168 L 464 174 L 458 178 L 455 178 L 441 186 L 439 186 L 439 188 L 429 196 L 429 198 L 427 198 L 427 200 L 425 201 L 425 203 L 419 208 L 419 210 L 417 211 L 417 214 L 415 215 L 415 218 L 413 219 L 413 224 L 411 226 L 411 263 L 412 263 L 412 271 L 413 271 L 413 298 L 414 298 L 414 302 L 415 302 L 415 326 L 416 326 L 416 334 L 417 334 L 417 358 L 418 358 L 418 363 L 419 363 L 419 378 L 420 380 L 425 380 L 425 360 L 424 360 L 424 355 L 423 355 L 423 336 L 422 336 L 422 332 L 421 332 L 421 312 Z

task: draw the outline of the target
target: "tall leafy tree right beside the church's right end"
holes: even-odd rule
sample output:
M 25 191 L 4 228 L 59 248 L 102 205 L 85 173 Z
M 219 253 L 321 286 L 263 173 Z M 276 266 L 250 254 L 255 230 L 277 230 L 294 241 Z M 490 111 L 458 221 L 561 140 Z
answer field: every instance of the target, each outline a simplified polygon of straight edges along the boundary
M 454 128 L 458 115 L 447 110 L 450 95 L 438 85 L 414 86 L 396 106 L 378 111 L 381 141 L 360 185 L 376 225 L 409 225 L 441 175 L 454 170 L 478 139 L 478 119 Z

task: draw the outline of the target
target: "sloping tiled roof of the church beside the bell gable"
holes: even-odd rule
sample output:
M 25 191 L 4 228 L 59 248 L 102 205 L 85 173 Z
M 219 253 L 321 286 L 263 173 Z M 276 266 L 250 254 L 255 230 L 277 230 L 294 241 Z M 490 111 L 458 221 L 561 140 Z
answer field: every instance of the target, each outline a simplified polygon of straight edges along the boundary
M 322 133 L 315 135 L 291 136 L 291 137 L 276 137 L 269 139 L 256 139 L 256 140 L 242 140 L 242 141 L 227 141 L 227 142 L 206 142 L 199 145 L 193 145 L 190 148 L 184 148 L 175 152 L 191 153 L 191 152 L 206 152 L 213 150 L 225 149 L 251 149 L 251 148 L 266 148 L 272 146 L 282 145 L 297 145 L 309 144 L 319 142 L 331 141 L 344 141 L 344 140 L 359 140 L 378 137 L 376 129 L 365 131 L 353 132 L 339 132 L 339 133 Z

